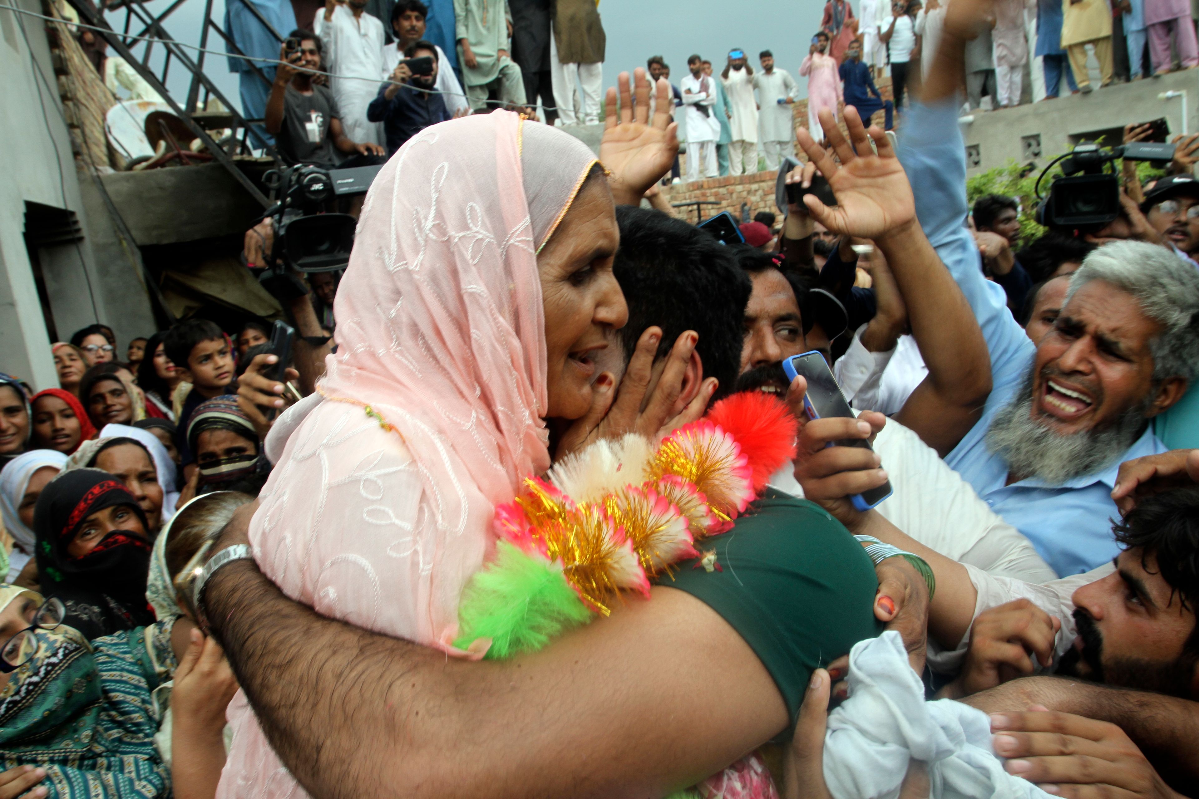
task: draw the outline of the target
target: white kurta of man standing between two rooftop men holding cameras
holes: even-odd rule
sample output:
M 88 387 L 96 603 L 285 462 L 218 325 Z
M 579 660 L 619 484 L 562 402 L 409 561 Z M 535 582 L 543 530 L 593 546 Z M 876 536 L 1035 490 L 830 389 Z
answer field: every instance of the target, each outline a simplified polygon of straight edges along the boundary
M 325 12 L 318 11 L 313 26 L 325 48 L 325 69 L 336 75 L 329 79 L 329 87 L 342 113 L 345 135 L 359 144 L 384 144 L 382 125 L 367 120 L 367 105 L 379 93 L 382 74 L 382 23 L 366 12 L 355 18 L 349 6 L 339 5 L 329 23 Z

